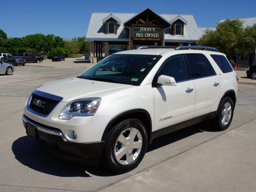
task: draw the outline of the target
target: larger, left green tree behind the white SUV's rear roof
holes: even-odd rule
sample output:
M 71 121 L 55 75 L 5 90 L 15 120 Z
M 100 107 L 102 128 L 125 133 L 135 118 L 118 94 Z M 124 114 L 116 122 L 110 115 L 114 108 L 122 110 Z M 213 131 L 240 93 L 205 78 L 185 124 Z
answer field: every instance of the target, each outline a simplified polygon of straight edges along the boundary
M 216 47 L 236 60 L 236 54 L 243 42 L 243 22 L 238 19 L 218 23 L 215 30 L 207 30 L 199 40 L 199 45 Z

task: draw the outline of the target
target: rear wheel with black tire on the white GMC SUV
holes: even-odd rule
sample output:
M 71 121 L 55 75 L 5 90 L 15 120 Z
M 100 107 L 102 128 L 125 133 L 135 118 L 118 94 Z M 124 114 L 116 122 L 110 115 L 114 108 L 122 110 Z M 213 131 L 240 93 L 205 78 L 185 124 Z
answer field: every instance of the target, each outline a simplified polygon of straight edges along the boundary
M 228 129 L 234 115 L 234 103 L 230 97 L 221 100 L 218 115 L 214 119 L 216 129 L 224 131 Z

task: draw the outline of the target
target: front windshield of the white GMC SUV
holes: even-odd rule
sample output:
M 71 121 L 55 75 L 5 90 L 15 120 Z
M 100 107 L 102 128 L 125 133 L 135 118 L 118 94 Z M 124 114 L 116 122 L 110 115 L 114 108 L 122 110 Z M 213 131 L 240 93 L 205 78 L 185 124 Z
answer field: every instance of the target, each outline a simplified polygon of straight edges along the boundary
M 159 61 L 159 55 L 113 54 L 86 70 L 80 78 L 139 85 Z

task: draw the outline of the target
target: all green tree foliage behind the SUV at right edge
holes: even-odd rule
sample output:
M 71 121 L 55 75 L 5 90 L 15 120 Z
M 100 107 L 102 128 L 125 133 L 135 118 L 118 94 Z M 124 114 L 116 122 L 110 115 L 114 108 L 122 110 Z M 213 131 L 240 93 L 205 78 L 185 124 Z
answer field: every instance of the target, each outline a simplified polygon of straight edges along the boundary
M 215 30 L 207 29 L 205 31 L 199 45 L 216 47 L 233 60 L 236 60 L 236 55 L 239 52 L 242 56 L 248 56 L 249 63 L 252 63 L 256 45 L 256 24 L 243 28 L 243 23 L 240 20 L 219 23 Z

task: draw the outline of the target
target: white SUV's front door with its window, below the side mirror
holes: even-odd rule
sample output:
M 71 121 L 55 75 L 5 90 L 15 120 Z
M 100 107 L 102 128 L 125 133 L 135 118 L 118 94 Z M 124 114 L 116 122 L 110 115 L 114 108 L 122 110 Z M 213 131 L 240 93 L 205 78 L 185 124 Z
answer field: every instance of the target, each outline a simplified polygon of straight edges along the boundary
M 164 61 L 154 81 L 161 75 L 174 77 L 177 84 L 153 88 L 156 118 L 154 131 L 186 122 L 194 115 L 195 85 L 189 78 L 184 55 L 172 56 Z

